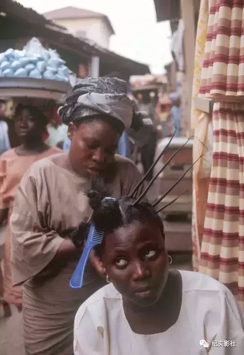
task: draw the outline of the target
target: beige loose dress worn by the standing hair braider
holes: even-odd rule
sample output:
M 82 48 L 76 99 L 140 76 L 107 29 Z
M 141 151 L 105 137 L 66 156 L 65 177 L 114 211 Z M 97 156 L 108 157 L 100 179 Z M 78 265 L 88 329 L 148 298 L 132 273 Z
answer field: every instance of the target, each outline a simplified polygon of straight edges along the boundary
M 34 163 L 18 189 L 13 213 L 12 274 L 23 285 L 24 337 L 27 355 L 72 355 L 73 323 L 79 305 L 104 283 L 90 269 L 85 286 L 71 289 L 78 259 L 59 268 L 46 268 L 64 237 L 92 212 L 84 192 L 89 180 L 58 154 Z M 111 196 L 127 195 L 138 183 L 135 164 L 116 156 Z

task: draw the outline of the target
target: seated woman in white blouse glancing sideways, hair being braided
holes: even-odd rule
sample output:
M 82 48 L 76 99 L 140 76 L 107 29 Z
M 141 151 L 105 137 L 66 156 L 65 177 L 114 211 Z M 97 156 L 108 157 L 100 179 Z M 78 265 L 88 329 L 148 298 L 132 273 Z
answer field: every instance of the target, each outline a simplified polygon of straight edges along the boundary
M 209 276 L 169 270 L 156 204 L 132 195 L 104 200 L 100 183 L 88 193 L 91 221 L 105 230 L 96 268 L 109 284 L 76 314 L 75 355 L 243 353 L 243 320 L 231 292 Z M 81 224 L 73 242 L 87 230 Z

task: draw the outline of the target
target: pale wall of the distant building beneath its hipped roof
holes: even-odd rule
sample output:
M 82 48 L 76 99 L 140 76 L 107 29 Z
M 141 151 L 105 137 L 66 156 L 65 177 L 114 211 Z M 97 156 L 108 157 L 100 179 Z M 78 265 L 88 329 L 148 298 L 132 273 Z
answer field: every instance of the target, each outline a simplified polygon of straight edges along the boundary
M 81 32 L 80 37 L 87 37 L 100 46 L 109 48 L 111 32 L 103 19 L 58 19 L 54 20 L 54 22 L 68 28 L 77 37 L 79 37 L 79 32 Z

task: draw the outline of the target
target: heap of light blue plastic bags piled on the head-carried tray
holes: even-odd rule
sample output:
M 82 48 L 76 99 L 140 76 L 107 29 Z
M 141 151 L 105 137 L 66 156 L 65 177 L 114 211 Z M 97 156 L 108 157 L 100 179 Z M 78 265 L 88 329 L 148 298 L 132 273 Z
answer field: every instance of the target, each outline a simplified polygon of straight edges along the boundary
M 23 50 L 0 53 L 0 77 L 35 78 L 69 82 L 66 62 L 52 49 L 32 38 Z

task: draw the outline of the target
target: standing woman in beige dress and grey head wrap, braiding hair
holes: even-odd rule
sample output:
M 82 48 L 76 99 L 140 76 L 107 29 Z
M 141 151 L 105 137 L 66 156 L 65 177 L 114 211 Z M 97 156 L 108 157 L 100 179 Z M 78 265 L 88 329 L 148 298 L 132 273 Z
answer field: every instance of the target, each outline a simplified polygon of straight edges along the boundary
M 85 193 L 91 176 L 102 176 L 115 198 L 140 180 L 135 164 L 115 155 L 125 129 L 139 143 L 150 132 L 125 92 L 125 82 L 116 78 L 77 84 L 59 110 L 69 125 L 69 154 L 33 164 L 20 184 L 11 217 L 12 274 L 14 284 L 23 284 L 27 355 L 72 355 L 77 309 L 104 285 L 89 265 L 84 287 L 70 288 L 81 248 L 69 237 L 91 215 Z

